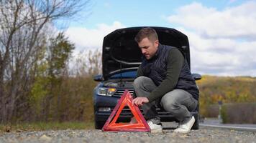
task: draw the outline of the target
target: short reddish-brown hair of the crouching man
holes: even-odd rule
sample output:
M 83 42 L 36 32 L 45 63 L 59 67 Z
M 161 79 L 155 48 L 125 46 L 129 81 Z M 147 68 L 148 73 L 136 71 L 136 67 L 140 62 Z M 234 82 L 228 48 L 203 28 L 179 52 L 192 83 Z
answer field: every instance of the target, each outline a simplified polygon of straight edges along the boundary
M 150 27 L 140 29 L 140 31 L 135 36 L 134 40 L 137 43 L 140 43 L 140 41 L 142 41 L 142 39 L 145 38 L 148 38 L 152 42 L 158 40 L 157 32 L 155 31 L 155 29 L 152 29 Z

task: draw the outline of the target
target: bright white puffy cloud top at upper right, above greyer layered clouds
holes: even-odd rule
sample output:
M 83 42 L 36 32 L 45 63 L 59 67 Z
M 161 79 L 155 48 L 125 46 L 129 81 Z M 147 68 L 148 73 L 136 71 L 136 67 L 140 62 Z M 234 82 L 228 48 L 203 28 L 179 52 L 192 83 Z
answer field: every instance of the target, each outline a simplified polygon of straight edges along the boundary
M 178 23 L 201 35 L 219 38 L 255 38 L 256 2 L 249 1 L 223 11 L 193 3 L 168 16 L 170 23 Z

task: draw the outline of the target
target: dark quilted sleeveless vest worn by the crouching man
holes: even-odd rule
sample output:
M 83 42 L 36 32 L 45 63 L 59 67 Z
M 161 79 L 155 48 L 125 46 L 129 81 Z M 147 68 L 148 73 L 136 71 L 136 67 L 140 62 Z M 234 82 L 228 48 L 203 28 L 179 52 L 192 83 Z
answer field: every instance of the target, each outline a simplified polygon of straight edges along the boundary
M 142 56 L 142 71 L 145 77 L 150 77 L 156 86 L 159 86 L 161 82 L 166 78 L 167 74 L 167 60 L 170 49 L 173 46 L 166 46 L 159 44 L 155 56 L 147 60 L 145 56 Z M 183 89 L 192 94 L 194 99 L 198 100 L 198 87 L 196 86 L 195 80 L 192 78 L 191 70 L 189 69 L 188 63 L 184 61 L 183 67 L 178 77 L 178 83 L 175 89 Z

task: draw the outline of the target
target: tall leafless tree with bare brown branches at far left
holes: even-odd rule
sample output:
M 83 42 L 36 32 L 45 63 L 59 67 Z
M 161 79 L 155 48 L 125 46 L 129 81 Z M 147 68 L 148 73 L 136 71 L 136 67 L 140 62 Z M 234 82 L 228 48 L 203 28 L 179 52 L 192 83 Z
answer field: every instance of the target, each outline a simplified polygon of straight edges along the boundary
M 86 4 L 80 0 L 0 1 L 0 122 L 10 121 L 27 104 L 53 21 L 74 16 Z

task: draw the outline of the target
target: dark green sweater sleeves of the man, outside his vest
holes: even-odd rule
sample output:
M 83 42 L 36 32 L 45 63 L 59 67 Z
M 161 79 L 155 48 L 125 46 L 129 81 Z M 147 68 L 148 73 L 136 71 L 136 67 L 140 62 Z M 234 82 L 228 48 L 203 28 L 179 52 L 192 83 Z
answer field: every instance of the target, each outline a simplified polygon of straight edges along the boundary
M 175 88 L 183 63 L 183 54 L 178 49 L 171 49 L 168 55 L 166 78 L 156 89 L 154 89 L 150 93 L 150 96 L 147 97 L 150 102 L 153 102 L 155 101 L 155 99 L 163 97 L 163 95 L 172 91 Z M 143 75 L 143 71 L 139 66 L 139 69 L 137 70 L 137 77 Z

